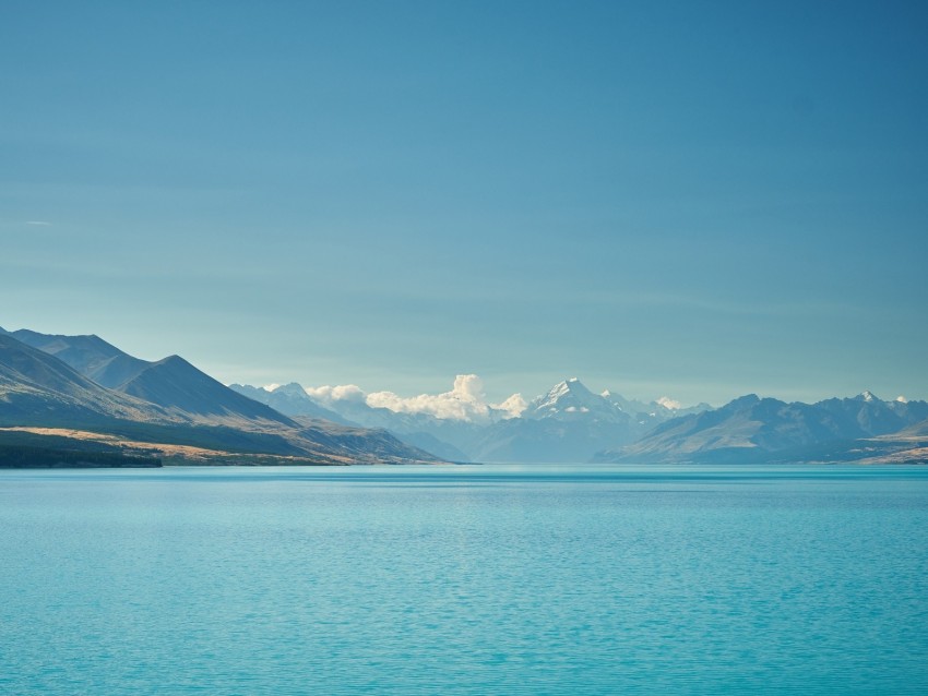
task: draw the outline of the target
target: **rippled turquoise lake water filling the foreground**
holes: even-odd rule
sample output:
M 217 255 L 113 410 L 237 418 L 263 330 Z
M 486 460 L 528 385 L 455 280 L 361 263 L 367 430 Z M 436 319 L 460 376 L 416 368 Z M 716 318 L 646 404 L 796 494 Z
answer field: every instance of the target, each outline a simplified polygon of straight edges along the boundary
M 0 472 L 0 693 L 925 694 L 928 469 Z

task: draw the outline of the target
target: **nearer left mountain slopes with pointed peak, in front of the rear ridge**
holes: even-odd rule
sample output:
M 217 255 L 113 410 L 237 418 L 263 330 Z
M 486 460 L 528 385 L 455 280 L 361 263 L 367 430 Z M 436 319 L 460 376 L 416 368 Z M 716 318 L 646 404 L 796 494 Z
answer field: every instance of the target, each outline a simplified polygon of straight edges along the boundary
M 238 463 L 236 456 L 249 453 L 302 464 L 436 461 L 384 432 L 325 421 L 297 423 L 177 357 L 147 364 L 123 388 L 131 393 L 107 389 L 61 360 L 0 334 L 0 428 L 57 428 L 108 433 L 124 442 L 199 447 L 215 452 L 219 459 L 212 460 L 223 463 Z

